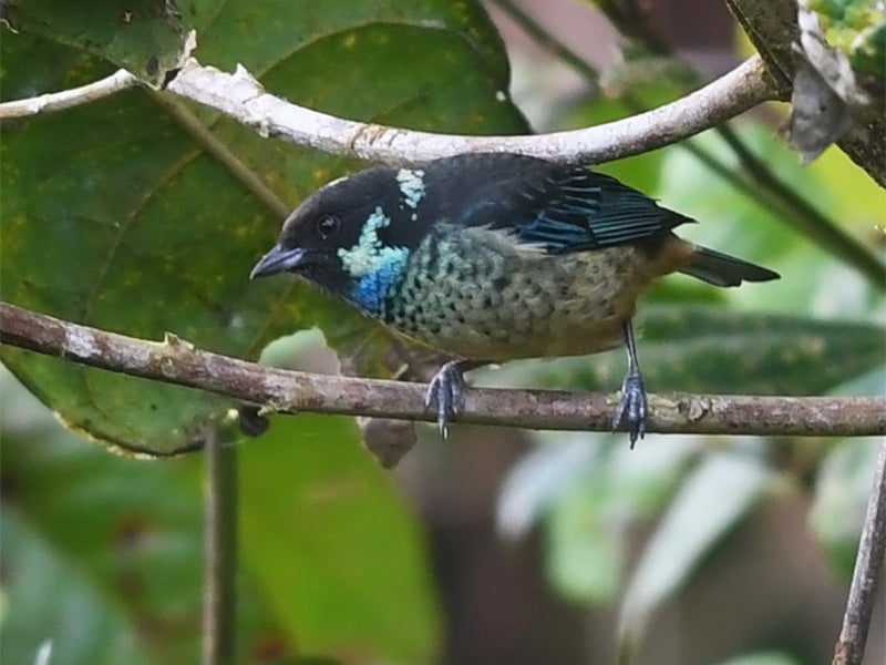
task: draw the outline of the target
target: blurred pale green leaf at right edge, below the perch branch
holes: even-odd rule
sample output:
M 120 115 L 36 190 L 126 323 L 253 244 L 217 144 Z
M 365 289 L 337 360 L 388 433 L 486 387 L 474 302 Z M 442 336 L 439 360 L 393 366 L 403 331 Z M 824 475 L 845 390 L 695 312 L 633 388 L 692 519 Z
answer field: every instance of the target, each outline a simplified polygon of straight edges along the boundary
M 842 441 L 824 458 L 815 479 L 810 526 L 846 580 L 855 565 L 878 448 L 877 439 Z

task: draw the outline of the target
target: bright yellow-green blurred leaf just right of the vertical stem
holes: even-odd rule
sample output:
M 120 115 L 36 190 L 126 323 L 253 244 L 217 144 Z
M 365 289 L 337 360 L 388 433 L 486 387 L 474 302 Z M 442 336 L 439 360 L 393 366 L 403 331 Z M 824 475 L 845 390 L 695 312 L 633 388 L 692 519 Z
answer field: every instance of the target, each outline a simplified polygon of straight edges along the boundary
M 302 653 L 432 662 L 424 545 L 351 419 L 276 418 L 240 457 L 241 555 Z

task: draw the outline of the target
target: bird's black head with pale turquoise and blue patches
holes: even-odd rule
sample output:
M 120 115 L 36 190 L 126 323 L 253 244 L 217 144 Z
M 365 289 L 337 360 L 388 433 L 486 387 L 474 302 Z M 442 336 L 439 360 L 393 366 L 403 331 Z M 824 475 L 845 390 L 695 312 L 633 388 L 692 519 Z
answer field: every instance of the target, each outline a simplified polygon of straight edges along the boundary
M 421 239 L 421 171 L 384 166 L 329 183 L 284 222 L 250 277 L 288 272 L 377 314 Z

